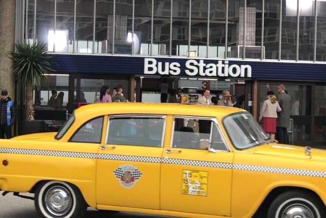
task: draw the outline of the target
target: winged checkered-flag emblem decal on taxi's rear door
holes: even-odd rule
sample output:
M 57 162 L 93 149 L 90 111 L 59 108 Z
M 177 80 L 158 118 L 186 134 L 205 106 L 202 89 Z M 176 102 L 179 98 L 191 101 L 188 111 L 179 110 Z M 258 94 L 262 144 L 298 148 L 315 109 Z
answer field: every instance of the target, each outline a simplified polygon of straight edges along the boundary
M 127 164 L 119 166 L 113 173 L 125 188 L 131 188 L 143 175 L 138 168 Z

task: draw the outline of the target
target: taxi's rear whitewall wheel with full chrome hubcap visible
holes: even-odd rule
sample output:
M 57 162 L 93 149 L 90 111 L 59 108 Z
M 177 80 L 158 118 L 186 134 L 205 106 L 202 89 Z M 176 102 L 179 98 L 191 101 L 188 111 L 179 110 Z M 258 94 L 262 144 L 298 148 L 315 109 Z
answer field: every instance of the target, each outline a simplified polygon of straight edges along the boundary
M 35 208 L 41 217 L 83 217 L 87 205 L 78 188 L 66 182 L 49 181 L 35 191 Z

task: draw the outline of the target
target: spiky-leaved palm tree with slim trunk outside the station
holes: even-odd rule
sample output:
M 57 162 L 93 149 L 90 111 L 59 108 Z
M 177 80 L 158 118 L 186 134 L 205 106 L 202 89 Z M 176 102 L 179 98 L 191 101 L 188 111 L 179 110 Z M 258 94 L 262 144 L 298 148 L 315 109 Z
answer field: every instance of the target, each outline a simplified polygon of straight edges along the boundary
M 13 79 L 26 88 L 26 120 L 34 120 L 33 85 L 35 82 L 39 89 L 44 74 L 52 70 L 49 62 L 52 56 L 44 42 L 16 43 L 10 55 L 14 62 Z

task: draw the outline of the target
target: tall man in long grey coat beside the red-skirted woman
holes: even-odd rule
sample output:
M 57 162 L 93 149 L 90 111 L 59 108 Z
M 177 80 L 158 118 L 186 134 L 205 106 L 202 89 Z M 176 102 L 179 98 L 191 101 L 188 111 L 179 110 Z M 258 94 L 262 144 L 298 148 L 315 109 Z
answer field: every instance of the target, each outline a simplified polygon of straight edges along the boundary
M 266 85 L 267 90 L 269 91 L 269 84 Z M 287 127 L 290 125 L 290 113 L 291 113 L 291 97 L 285 91 L 285 86 L 283 84 L 278 85 L 277 87 L 278 95 L 277 100 L 281 107 L 281 111 L 277 113 L 278 118 L 276 122 L 276 134 L 275 139 L 282 144 L 289 144 L 289 135 L 287 133 Z

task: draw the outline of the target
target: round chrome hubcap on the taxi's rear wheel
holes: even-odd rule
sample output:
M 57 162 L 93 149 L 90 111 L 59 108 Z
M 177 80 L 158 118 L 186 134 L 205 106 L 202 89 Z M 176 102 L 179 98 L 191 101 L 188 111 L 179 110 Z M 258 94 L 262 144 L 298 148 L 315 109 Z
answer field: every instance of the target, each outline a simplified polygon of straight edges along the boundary
M 50 188 L 44 200 L 47 210 L 53 215 L 64 215 L 68 213 L 72 205 L 69 191 L 61 186 Z

